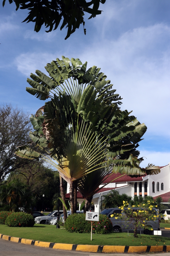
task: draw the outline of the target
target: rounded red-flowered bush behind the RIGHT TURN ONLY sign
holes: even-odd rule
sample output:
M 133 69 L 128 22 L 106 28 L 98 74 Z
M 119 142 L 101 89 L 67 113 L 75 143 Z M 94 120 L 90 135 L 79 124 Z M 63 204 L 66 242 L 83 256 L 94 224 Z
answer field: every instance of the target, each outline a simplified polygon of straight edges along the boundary
M 68 232 L 91 233 L 91 221 L 86 221 L 86 214 L 69 215 L 65 221 L 65 228 Z M 99 215 L 99 222 L 92 222 L 92 232 L 105 234 L 112 231 L 111 220 L 103 214 Z

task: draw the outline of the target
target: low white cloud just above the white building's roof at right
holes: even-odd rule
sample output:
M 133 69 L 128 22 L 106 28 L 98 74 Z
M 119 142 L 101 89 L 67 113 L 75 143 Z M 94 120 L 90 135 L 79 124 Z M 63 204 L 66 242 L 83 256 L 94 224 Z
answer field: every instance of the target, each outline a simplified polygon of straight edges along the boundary
M 144 161 L 140 164 L 140 166 L 144 168 L 148 166 L 148 163 L 152 163 L 156 166 L 165 166 L 168 165 L 168 162 L 170 162 L 170 152 L 154 152 L 142 150 L 140 153 L 140 157 L 144 157 Z

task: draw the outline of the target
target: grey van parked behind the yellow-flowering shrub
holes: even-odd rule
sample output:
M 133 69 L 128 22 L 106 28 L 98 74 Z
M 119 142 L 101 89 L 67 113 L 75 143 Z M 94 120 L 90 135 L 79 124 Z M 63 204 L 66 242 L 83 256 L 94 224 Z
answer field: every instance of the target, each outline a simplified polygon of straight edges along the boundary
M 136 208 L 138 209 L 138 208 Z M 153 211 L 155 212 L 156 215 L 158 215 L 158 210 L 156 208 L 153 208 Z M 105 214 L 108 216 L 108 218 L 111 220 L 112 225 L 113 225 L 113 230 L 115 232 L 129 232 L 129 233 L 133 233 L 134 232 L 134 227 L 133 227 L 133 222 L 128 222 L 124 221 L 122 219 L 115 219 L 115 218 L 111 218 L 111 214 L 115 214 L 121 213 L 121 209 L 118 208 L 109 208 L 109 209 L 105 209 L 103 210 L 100 214 Z M 160 230 L 160 226 L 159 226 L 159 218 L 156 219 L 156 221 L 149 221 L 147 222 L 148 225 L 150 225 L 153 230 Z M 138 229 L 138 233 L 140 233 L 140 231 L 146 235 L 152 235 L 152 230 L 148 230 L 148 229 L 142 229 L 141 227 Z

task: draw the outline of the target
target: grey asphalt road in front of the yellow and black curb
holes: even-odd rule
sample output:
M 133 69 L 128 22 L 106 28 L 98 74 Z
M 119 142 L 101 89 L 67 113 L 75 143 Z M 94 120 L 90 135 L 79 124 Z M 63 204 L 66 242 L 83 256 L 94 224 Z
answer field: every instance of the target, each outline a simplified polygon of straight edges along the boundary
M 170 256 L 170 253 L 155 253 L 156 256 Z M 0 240 L 0 256 L 101 256 L 101 253 L 85 253 L 80 251 L 65 251 L 65 250 L 55 250 L 49 248 L 36 247 L 32 245 L 24 245 L 21 243 L 14 243 L 11 241 Z M 109 256 L 123 256 L 125 254 L 112 254 Z M 128 253 L 129 256 L 134 254 Z

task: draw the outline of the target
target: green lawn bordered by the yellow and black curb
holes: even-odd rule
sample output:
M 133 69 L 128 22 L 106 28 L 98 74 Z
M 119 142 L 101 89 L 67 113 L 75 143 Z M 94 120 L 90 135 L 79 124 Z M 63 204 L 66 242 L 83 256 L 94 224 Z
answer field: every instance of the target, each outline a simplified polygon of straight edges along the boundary
M 56 229 L 56 226 L 35 224 L 33 227 L 8 227 L 0 225 L 0 233 L 13 237 L 21 237 L 53 243 L 71 243 L 80 245 L 170 245 L 167 237 L 141 235 L 138 238 L 128 236 L 127 233 L 91 234 L 68 233 L 65 229 Z M 133 234 L 131 234 L 133 235 Z

